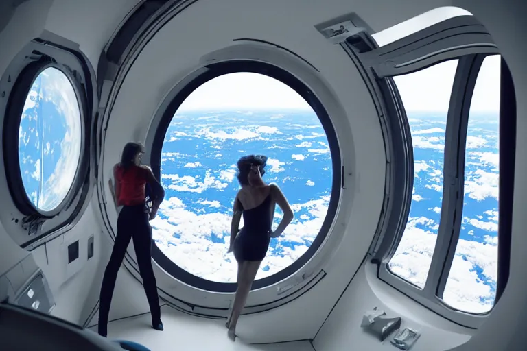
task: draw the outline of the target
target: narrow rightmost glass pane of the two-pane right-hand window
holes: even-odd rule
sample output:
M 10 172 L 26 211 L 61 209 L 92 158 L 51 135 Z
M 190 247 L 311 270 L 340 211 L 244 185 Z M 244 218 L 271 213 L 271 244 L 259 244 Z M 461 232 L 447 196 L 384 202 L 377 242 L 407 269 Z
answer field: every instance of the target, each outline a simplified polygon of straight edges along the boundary
M 472 97 L 465 152 L 463 218 L 443 300 L 462 311 L 490 311 L 497 280 L 500 56 L 485 58 Z

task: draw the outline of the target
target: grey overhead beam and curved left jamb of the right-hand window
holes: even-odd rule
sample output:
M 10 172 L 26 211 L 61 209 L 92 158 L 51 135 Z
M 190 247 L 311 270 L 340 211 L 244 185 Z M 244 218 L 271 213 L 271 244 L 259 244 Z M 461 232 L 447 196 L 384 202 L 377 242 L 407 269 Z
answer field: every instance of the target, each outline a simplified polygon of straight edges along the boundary
M 364 75 L 375 80 L 375 84 L 372 84 L 373 88 L 378 87 L 379 95 L 382 95 L 382 99 L 379 99 L 384 102 L 385 110 L 379 111 L 379 117 L 388 125 L 389 130 L 385 143 L 388 144 L 386 158 L 391 177 L 394 181 L 400 180 L 400 184 L 410 184 L 410 195 L 408 195 L 408 189 L 390 186 L 390 180 L 386 180 L 385 202 L 388 205 L 383 207 L 382 223 L 379 223 L 369 251 L 371 261 L 379 264 L 386 254 L 393 254 L 397 250 L 397 245 L 401 241 L 401 230 L 406 227 L 406 218 L 410 210 L 410 202 L 402 201 L 401 197 L 411 196 L 414 174 L 413 160 L 408 161 L 410 156 L 413 157 L 410 126 L 406 121 L 403 102 L 392 77 L 426 69 L 434 64 L 466 55 L 492 54 L 499 51 L 487 29 L 473 16 L 456 16 L 447 19 L 383 47 L 379 47 L 371 35 L 364 35 L 371 42 L 371 49 L 366 51 L 355 49 L 354 60 L 360 62 L 355 65 L 362 66 Z M 452 37 L 456 38 L 457 46 L 452 46 Z M 351 43 L 347 43 L 350 49 L 352 46 Z M 394 202 L 397 202 L 397 206 L 394 206 Z M 404 223 L 401 224 L 401 221 Z

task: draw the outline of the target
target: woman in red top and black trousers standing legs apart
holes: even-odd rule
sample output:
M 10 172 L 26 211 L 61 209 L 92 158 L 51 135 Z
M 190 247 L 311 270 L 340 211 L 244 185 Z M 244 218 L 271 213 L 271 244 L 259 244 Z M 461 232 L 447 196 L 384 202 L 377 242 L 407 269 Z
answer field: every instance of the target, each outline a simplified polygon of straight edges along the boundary
M 113 167 L 115 180 L 115 200 L 117 206 L 123 206 L 117 218 L 117 234 L 110 261 L 106 265 L 99 304 L 99 335 L 108 335 L 108 313 L 112 300 L 117 272 L 126 254 L 130 239 L 134 239 L 135 256 L 139 265 L 139 274 L 143 280 L 150 313 L 152 328 L 163 330 L 161 310 L 157 295 L 157 283 L 152 269 L 152 227 L 148 221 L 154 219 L 159 205 L 165 197 L 163 186 L 156 180 L 152 170 L 141 165 L 145 152 L 140 143 L 127 143 L 124 146 L 121 162 Z M 145 187 L 149 186 L 152 208 L 146 204 Z

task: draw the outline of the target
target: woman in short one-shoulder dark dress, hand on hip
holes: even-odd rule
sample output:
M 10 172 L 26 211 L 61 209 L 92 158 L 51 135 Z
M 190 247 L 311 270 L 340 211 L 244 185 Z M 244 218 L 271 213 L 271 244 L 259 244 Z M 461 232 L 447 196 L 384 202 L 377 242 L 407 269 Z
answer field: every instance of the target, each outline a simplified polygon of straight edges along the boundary
M 237 178 L 242 186 L 236 195 L 231 223 L 231 245 L 238 263 L 236 295 L 227 321 L 229 337 L 235 340 L 236 324 L 245 306 L 260 263 L 266 257 L 270 238 L 277 238 L 294 218 L 288 200 L 276 184 L 266 184 L 261 178 L 266 173 L 267 157 L 244 156 L 238 161 Z M 277 230 L 271 229 L 274 207 L 283 212 Z M 239 230 L 240 217 L 244 215 L 244 228 Z

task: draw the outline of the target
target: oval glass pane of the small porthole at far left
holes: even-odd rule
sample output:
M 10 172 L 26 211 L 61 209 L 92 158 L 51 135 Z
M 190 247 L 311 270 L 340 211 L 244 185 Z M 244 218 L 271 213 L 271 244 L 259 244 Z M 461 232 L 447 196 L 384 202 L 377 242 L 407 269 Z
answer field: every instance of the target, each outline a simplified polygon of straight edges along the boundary
M 77 95 L 62 71 L 49 67 L 34 80 L 19 128 L 19 160 L 32 204 L 54 210 L 73 185 L 79 165 L 81 120 Z

